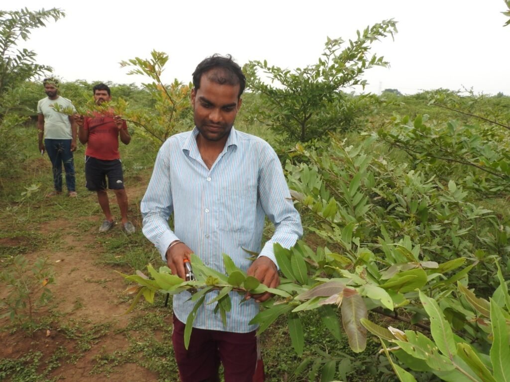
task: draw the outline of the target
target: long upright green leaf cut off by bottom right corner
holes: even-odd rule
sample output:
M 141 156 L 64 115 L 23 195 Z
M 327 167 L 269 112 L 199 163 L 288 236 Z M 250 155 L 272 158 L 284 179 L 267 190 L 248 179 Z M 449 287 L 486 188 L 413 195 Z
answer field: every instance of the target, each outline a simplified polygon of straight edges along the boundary
M 491 299 L 493 342 L 490 355 L 494 378 L 498 382 L 510 381 L 510 345 L 506 324 L 502 309 Z

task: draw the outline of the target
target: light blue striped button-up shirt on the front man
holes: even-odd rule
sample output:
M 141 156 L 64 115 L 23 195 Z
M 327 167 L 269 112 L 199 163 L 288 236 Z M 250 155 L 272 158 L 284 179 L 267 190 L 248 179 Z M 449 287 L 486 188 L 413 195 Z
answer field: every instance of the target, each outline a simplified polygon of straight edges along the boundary
M 160 148 L 154 172 L 141 202 L 143 233 L 161 253 L 181 240 L 209 267 L 226 273 L 222 254 L 230 256 L 246 271 L 251 264 L 247 249 L 260 252 L 275 264 L 273 243 L 290 248 L 302 235 L 301 219 L 291 200 L 281 163 L 264 140 L 232 128 L 225 148 L 208 169 L 196 144 L 196 127 L 170 137 Z M 174 214 L 174 231 L 168 225 Z M 274 224 L 274 234 L 262 245 L 265 216 Z M 210 292 L 198 310 L 194 328 L 247 333 L 257 329 L 248 322 L 259 304 L 231 293 L 232 310 L 224 326 L 216 303 L 207 304 Z M 182 322 L 195 302 L 190 293 L 173 297 L 173 311 Z

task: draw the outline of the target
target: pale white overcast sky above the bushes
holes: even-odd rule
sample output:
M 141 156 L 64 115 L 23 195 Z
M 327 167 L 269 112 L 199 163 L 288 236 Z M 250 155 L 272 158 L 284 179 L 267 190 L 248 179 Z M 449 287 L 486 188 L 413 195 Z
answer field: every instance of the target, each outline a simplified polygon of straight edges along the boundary
M 163 80 L 188 83 L 195 66 L 213 53 L 230 53 L 243 65 L 266 59 L 293 69 L 314 64 L 326 37 L 355 38 L 356 30 L 394 18 L 395 41 L 374 52 L 391 67 L 372 68 L 366 91 L 473 88 L 510 95 L 510 26 L 503 0 L 258 0 L 122 3 L 88 0 L 3 0 L 0 9 L 61 8 L 66 17 L 33 30 L 27 44 L 38 62 L 72 81 L 140 84 L 119 62 L 148 58 L 152 49 L 170 57 Z

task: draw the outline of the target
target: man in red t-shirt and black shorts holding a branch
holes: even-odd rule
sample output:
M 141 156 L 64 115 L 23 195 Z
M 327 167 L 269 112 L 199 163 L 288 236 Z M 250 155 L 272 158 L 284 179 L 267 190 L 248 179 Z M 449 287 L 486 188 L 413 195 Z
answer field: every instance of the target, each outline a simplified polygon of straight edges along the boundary
M 110 88 L 105 84 L 97 84 L 93 88 L 96 104 L 108 102 L 112 99 Z M 82 144 L 87 144 L 85 151 L 85 179 L 86 187 L 97 193 L 99 206 L 105 213 L 105 221 L 99 232 L 107 232 L 115 225 L 110 211 L 108 188 L 113 189 L 120 208 L 122 226 L 127 234 L 135 232 L 135 227 L 127 219 L 127 195 L 124 189 L 122 164 L 119 154 L 119 137 L 124 145 L 131 142 L 131 135 L 127 131 L 127 124 L 118 116 L 94 113 L 94 117 L 75 116 L 78 124 L 78 138 Z

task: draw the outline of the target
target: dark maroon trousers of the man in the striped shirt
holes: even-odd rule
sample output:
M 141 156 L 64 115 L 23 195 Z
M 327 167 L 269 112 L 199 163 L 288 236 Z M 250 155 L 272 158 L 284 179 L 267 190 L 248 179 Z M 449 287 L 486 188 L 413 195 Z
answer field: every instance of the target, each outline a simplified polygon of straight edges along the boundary
M 257 362 L 255 332 L 231 333 L 193 328 L 186 350 L 185 326 L 173 316 L 172 342 L 182 382 L 219 382 L 220 362 L 225 382 L 264 380 L 262 360 Z

